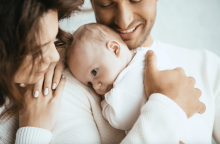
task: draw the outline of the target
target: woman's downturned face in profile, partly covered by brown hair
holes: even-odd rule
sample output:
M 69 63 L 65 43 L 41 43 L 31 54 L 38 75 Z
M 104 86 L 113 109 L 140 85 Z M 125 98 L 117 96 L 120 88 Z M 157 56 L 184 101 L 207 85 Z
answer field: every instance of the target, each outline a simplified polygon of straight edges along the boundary
M 42 57 L 32 62 L 32 55 L 28 55 L 21 67 L 15 74 L 15 83 L 34 84 L 44 77 L 51 63 L 59 60 L 59 53 L 54 45 L 54 39 L 58 33 L 57 11 L 50 10 L 44 14 L 41 21 L 40 44 L 42 46 Z M 33 71 L 31 72 L 33 67 Z

